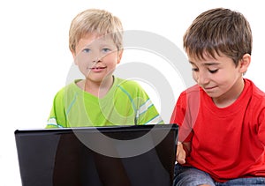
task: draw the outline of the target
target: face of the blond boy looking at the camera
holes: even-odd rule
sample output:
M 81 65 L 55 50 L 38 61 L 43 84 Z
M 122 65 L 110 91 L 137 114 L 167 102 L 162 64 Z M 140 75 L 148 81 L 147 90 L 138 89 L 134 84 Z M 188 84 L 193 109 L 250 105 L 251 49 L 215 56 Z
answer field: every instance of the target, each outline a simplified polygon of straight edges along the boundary
M 101 83 L 103 79 L 112 78 L 112 73 L 121 60 L 122 51 L 117 51 L 110 36 L 87 34 L 79 40 L 72 56 L 87 80 Z

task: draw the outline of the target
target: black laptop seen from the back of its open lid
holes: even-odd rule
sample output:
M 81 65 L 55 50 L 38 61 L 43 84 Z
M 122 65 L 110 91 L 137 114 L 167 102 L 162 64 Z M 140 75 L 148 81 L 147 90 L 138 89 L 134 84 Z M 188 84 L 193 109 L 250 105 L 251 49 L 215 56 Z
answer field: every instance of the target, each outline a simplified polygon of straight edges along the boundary
M 171 186 L 178 125 L 15 130 L 23 186 Z

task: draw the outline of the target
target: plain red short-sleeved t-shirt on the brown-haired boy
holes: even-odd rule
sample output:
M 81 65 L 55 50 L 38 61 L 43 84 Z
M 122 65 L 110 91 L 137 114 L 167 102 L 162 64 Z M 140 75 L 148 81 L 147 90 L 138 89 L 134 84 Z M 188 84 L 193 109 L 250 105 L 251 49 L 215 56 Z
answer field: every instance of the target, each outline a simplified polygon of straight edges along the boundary
M 231 106 L 217 108 L 201 89 L 181 93 L 170 123 L 179 124 L 179 140 L 191 142 L 186 165 L 197 167 L 217 182 L 265 176 L 265 93 L 245 80 Z

